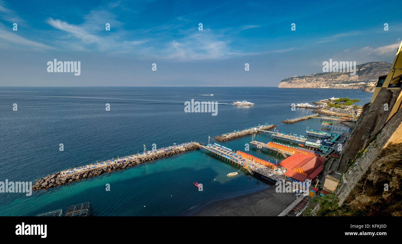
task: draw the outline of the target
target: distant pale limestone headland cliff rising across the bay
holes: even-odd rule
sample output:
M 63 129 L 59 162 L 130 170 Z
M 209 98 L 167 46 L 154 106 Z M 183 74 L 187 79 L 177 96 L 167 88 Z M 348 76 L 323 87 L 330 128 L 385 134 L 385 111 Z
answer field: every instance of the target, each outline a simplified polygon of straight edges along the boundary
M 326 72 L 295 76 L 281 80 L 278 87 L 365 89 L 369 82 L 377 82 L 379 76 L 388 74 L 390 67 L 391 64 L 388 62 L 364 63 L 356 65 L 356 74 L 353 76 L 349 72 Z M 365 82 L 365 84 L 348 85 L 359 82 Z

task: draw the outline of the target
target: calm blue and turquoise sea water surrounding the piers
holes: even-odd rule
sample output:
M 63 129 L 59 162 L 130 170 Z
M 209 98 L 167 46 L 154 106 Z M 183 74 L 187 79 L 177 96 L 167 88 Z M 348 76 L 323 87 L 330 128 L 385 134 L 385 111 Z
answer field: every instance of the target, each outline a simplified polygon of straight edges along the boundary
M 214 96 L 200 96 L 214 94 Z M 277 87 L 0 87 L 0 181 L 35 181 L 62 169 L 131 155 L 156 144 L 208 142 L 213 137 L 256 124 L 305 134 L 321 122 L 282 120 L 311 110 L 291 111 L 291 103 L 334 97 L 370 101 L 372 93 L 352 89 L 285 89 Z M 185 113 L 184 102 L 217 101 L 218 114 Z M 227 105 L 248 100 L 252 107 Z M 18 111 L 13 111 L 16 103 Z M 105 110 L 105 104 L 111 110 Z M 226 103 L 226 104 L 224 104 Z M 251 135 L 222 142 L 244 150 Z M 257 134 L 256 140 L 271 141 Z M 59 151 L 59 144 L 64 151 Z M 276 163 L 281 157 L 250 149 L 250 154 Z M 0 193 L 0 216 L 29 216 L 91 201 L 96 216 L 179 215 L 199 204 L 241 195 L 267 183 L 193 150 L 139 166 L 83 179 L 48 190 Z M 241 171 L 240 171 L 241 172 Z M 193 182 L 203 183 L 198 191 Z M 106 191 L 106 184 L 110 191 Z M 145 207 L 144 207 L 145 206 Z

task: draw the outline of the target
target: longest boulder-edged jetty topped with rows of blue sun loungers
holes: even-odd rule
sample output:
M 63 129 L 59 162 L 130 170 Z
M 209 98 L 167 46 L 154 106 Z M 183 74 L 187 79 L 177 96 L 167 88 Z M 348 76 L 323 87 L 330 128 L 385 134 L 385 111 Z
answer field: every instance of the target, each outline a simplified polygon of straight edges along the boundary
M 101 175 L 105 172 L 112 172 L 116 169 L 125 169 L 126 167 L 139 163 L 144 163 L 162 157 L 169 157 L 177 153 L 184 153 L 189 150 L 198 149 L 200 146 L 201 145 L 198 142 L 187 142 L 153 151 L 121 157 L 119 159 L 108 159 L 99 163 L 67 169 L 39 179 L 35 185 L 32 186 L 32 189 L 48 189 L 50 187 L 63 185 L 74 180 Z

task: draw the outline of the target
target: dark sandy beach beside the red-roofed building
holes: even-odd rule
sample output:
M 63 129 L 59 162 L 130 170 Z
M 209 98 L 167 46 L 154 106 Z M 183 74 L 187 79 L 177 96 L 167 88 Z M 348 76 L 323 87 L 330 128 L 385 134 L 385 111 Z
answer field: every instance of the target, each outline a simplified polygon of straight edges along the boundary
M 191 216 L 277 216 L 296 197 L 294 193 L 276 193 L 275 185 L 260 191 L 214 201 Z M 186 214 L 187 215 L 187 214 Z

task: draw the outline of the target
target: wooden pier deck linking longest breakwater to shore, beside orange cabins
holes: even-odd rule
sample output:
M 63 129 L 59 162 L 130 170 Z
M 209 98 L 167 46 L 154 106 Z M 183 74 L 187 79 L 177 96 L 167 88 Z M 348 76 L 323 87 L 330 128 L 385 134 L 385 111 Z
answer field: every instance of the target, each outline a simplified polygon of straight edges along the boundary
M 272 183 L 277 181 L 282 182 L 285 177 L 284 175 L 280 175 L 275 169 L 270 169 L 269 167 L 265 167 L 236 154 L 236 152 L 232 151 L 230 148 L 222 147 L 217 144 L 208 144 L 207 146 L 201 145 L 200 149 L 242 170 L 247 170 L 251 175 L 260 176 Z

